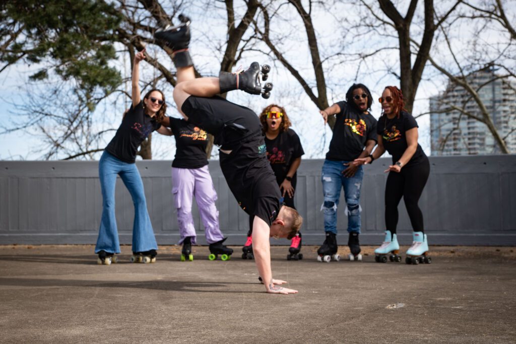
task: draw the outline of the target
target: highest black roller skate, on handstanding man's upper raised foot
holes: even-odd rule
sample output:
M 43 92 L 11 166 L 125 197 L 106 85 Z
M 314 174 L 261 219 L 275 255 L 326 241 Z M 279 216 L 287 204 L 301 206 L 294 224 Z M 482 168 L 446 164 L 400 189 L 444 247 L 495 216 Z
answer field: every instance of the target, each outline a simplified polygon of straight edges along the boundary
M 163 30 L 154 32 L 154 37 L 172 49 L 172 60 L 175 67 L 188 67 L 193 65 L 188 52 L 188 45 L 190 44 L 190 19 L 183 14 L 180 14 L 178 18 L 181 24 L 173 27 L 165 26 Z

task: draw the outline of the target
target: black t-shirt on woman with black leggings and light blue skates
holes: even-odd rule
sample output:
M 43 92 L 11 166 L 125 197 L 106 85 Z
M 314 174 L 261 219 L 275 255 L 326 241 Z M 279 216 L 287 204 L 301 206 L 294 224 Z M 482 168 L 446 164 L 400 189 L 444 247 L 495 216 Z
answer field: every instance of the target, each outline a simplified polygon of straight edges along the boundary
M 417 128 L 417 122 L 412 115 L 406 111 L 399 113 L 399 118 L 388 119 L 386 116 L 378 120 L 378 135 L 382 136 L 383 146 L 392 155 L 392 162 L 398 161 L 405 150 L 407 150 L 407 137 L 405 132 L 412 128 Z M 426 154 L 421 145 L 417 144 L 417 149 L 412 158 L 406 163 L 405 167 L 417 165 L 425 160 Z

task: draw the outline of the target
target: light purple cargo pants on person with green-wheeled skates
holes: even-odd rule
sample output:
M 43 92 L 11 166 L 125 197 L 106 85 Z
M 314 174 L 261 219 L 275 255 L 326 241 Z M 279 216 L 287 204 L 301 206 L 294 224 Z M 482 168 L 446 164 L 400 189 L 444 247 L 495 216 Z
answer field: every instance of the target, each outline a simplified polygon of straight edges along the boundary
M 172 194 L 175 208 L 178 210 L 179 232 L 183 243 L 186 237 L 192 237 L 196 243 L 195 227 L 193 226 L 192 201 L 195 196 L 206 241 L 214 243 L 224 238 L 219 227 L 219 211 L 215 206 L 217 193 L 213 187 L 212 176 L 208 166 L 199 169 L 180 169 L 172 167 Z

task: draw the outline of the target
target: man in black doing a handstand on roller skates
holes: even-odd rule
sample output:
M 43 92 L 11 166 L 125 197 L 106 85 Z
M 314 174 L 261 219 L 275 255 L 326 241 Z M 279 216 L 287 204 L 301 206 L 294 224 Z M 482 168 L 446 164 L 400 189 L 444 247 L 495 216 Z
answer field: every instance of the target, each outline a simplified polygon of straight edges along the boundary
M 219 77 L 195 77 L 188 45 L 189 19 L 178 28 L 156 32 L 173 53 L 177 69 L 177 84 L 173 96 L 185 120 L 214 135 L 220 146 L 220 168 L 239 206 L 253 221 L 253 251 L 261 281 L 269 293 L 297 293 L 281 287 L 286 283 L 272 279 L 270 267 L 270 237 L 292 239 L 301 227 L 298 212 L 280 203 L 281 192 L 266 157 L 265 141 L 260 120 L 251 109 L 231 103 L 217 94 L 244 90 L 260 94 L 260 65 L 240 74 L 221 72 Z

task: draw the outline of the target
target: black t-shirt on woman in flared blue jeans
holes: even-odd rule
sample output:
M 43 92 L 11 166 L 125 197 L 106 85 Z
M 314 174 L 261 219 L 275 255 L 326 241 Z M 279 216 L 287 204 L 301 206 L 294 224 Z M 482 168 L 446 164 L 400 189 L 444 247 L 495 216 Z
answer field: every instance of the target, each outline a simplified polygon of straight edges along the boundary
M 136 107 L 131 105 L 106 151 L 124 162 L 133 163 L 141 142 L 160 126 L 155 118 L 143 113 L 143 102 Z

